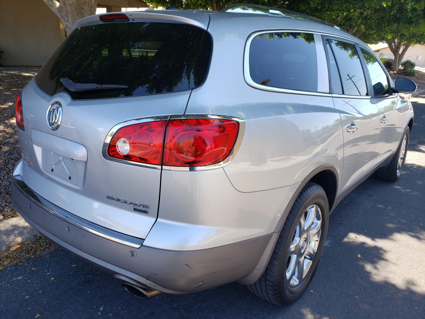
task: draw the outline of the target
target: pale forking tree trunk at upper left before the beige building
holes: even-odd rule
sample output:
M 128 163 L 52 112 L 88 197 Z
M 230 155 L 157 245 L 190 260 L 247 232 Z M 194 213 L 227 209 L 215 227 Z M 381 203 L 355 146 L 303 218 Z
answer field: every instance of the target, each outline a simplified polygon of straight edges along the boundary
M 66 34 L 70 34 L 74 23 L 84 17 L 96 14 L 96 0 L 43 0 L 62 20 Z

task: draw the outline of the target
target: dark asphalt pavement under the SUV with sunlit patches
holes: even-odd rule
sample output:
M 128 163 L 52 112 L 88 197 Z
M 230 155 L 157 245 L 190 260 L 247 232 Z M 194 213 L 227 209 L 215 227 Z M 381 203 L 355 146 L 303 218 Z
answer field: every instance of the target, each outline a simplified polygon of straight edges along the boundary
M 425 318 L 425 96 L 411 102 L 401 179 L 370 177 L 338 205 L 316 275 L 295 304 L 271 305 L 236 283 L 138 299 L 57 248 L 0 271 L 0 319 Z

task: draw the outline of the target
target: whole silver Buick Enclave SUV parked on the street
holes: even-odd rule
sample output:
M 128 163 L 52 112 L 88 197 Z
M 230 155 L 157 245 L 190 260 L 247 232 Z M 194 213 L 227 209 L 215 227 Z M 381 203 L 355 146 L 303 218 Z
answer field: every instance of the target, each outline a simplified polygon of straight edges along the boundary
M 17 97 L 13 204 L 138 296 L 237 281 L 289 304 L 338 202 L 399 179 L 415 89 L 295 12 L 86 17 Z

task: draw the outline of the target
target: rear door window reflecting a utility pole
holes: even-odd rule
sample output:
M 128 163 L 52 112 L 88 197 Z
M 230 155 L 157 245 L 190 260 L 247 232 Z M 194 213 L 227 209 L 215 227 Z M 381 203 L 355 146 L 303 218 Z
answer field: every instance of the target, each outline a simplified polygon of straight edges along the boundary
M 354 44 L 329 40 L 340 70 L 344 94 L 367 95 L 365 74 Z

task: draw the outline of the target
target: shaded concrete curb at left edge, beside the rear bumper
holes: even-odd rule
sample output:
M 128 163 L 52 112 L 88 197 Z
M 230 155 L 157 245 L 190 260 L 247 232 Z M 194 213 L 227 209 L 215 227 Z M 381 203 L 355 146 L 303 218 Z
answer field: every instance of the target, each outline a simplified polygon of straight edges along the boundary
M 0 222 L 0 251 L 11 245 L 17 245 L 26 239 L 32 239 L 38 232 L 21 216 L 8 218 Z

